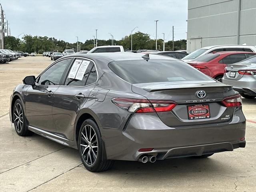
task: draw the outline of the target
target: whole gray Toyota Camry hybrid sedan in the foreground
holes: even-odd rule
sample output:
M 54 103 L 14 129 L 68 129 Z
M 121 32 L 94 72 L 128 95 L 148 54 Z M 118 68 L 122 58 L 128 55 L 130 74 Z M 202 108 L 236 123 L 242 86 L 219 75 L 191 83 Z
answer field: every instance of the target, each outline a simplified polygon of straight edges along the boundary
M 78 149 L 93 172 L 113 160 L 206 158 L 246 145 L 239 93 L 156 54 L 65 56 L 16 86 L 10 120 L 20 136 Z

